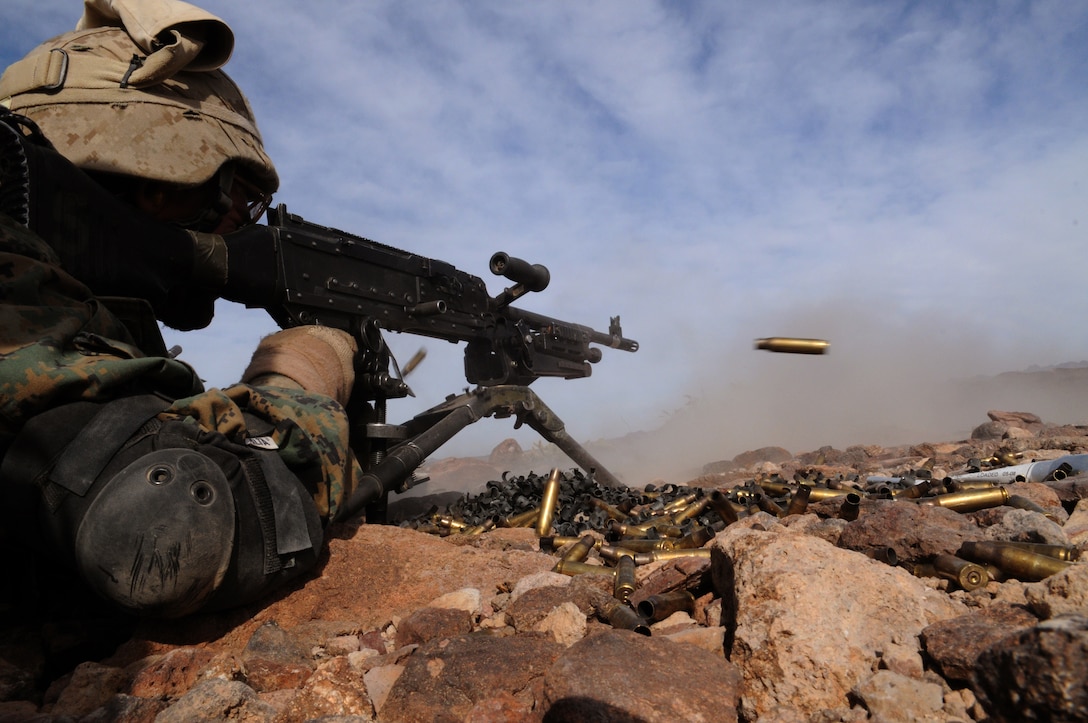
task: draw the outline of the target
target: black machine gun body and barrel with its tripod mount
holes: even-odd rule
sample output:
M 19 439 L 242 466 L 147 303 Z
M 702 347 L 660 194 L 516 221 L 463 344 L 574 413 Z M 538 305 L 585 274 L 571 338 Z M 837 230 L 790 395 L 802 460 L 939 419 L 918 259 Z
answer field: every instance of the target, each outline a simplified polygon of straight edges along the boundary
M 601 345 L 636 351 L 619 316 L 607 333 L 511 307 L 547 287 L 549 274 L 506 253 L 491 271 L 515 282 L 492 297 L 483 279 L 453 265 L 309 223 L 284 205 L 269 211 L 275 239 L 276 286 L 265 309 L 282 328 L 321 324 L 359 342 L 348 414 L 351 445 L 364 475 L 337 519 L 367 509 L 384 515 L 390 491 L 406 490 L 416 469 L 469 424 L 514 416 L 556 445 L 602 484 L 621 483 L 578 441 L 529 385 L 542 376 L 590 376 Z M 386 401 L 411 395 L 382 331 L 466 342 L 465 376 L 474 389 L 450 396 L 404 424 L 386 422 Z M 413 395 L 412 395 L 413 396 Z

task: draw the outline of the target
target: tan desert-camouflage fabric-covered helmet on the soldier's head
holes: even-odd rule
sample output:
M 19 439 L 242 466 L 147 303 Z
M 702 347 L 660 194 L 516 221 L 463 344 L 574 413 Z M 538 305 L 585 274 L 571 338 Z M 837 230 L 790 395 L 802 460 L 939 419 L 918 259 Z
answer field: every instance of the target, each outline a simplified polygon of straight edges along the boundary
M 0 104 L 88 171 L 196 186 L 233 161 L 273 192 L 279 176 L 234 82 L 220 70 L 183 70 L 132 83 L 148 76 L 147 55 L 119 27 L 67 33 L 4 71 Z

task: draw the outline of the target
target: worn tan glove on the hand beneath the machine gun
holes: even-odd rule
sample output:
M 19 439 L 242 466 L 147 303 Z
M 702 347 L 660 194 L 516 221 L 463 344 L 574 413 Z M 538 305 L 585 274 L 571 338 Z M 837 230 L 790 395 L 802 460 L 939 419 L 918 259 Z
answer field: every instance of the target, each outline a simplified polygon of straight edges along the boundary
M 347 406 L 355 384 L 351 335 L 330 326 L 296 326 L 261 339 L 242 381 L 255 386 L 300 388 Z

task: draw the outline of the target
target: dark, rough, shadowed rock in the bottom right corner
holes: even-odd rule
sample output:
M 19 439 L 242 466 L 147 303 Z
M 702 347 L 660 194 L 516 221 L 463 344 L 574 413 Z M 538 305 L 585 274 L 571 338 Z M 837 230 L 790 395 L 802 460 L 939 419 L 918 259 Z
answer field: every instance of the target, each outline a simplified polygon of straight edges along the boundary
M 1088 720 L 1088 619 L 1055 618 L 991 646 L 972 689 L 997 723 Z

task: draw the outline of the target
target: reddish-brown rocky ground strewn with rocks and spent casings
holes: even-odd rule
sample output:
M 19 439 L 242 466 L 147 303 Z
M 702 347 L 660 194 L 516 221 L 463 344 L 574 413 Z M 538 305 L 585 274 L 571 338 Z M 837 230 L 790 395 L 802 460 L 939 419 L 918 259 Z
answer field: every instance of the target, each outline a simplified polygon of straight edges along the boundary
M 1088 564 L 941 556 L 1012 540 L 1075 557 L 1088 475 L 967 503 L 945 478 L 1086 452 L 1088 426 L 992 412 L 966 440 L 754 450 L 648 494 L 567 474 L 545 532 L 602 540 L 581 561 L 595 570 L 533 527 L 463 531 L 514 514 L 511 493 L 540 502 L 543 477 L 508 476 L 454 506 L 477 520 L 333 529 L 318 574 L 244 610 L 11 603 L 0 722 L 1084 721 Z M 620 546 L 640 562 L 627 604 Z

